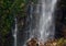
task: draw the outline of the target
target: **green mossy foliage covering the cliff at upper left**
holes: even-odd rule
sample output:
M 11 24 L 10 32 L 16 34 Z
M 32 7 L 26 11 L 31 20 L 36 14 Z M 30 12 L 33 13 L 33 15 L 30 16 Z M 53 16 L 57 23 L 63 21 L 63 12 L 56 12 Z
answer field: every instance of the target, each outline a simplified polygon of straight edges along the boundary
M 10 33 L 14 16 L 25 15 L 28 0 L 0 0 L 0 34 L 2 46 L 6 43 L 7 35 Z

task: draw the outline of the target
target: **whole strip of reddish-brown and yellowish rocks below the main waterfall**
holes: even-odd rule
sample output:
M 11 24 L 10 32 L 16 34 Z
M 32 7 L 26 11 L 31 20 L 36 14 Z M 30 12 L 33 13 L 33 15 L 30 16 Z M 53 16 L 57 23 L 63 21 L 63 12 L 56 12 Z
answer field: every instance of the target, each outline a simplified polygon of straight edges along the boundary
M 28 41 L 26 46 L 66 46 L 66 39 L 48 39 L 47 42 L 43 43 L 36 38 L 31 38 Z

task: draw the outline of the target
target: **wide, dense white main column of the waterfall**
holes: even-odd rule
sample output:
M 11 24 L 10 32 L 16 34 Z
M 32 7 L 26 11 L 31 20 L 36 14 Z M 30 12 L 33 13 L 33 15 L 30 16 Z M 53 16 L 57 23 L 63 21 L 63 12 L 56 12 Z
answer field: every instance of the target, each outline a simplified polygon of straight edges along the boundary
M 54 8 L 57 0 L 41 0 L 41 18 L 40 18 L 40 38 L 47 41 L 54 37 Z

